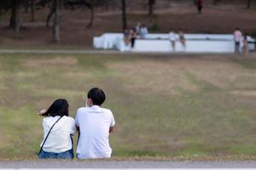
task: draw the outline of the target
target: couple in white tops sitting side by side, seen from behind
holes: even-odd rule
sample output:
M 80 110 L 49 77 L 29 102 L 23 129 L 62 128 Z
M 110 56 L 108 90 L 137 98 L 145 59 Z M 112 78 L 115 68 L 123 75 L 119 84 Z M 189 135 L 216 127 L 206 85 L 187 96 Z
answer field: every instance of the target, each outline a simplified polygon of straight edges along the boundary
M 72 136 L 78 130 L 77 157 L 79 159 L 109 158 L 112 149 L 108 143 L 113 132 L 113 113 L 100 106 L 106 99 L 102 89 L 90 89 L 86 107 L 79 108 L 75 120 L 68 116 L 66 99 L 57 99 L 47 111 L 40 111 L 43 120 L 44 140 L 39 158 L 73 159 Z

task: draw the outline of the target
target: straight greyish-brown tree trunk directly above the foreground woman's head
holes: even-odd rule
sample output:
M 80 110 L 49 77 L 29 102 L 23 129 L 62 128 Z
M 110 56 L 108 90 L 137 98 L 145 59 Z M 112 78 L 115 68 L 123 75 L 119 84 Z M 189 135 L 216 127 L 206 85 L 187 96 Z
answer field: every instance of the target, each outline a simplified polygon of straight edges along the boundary
M 60 20 L 61 20 L 61 0 L 55 0 L 55 20 L 53 26 L 53 41 L 60 42 Z

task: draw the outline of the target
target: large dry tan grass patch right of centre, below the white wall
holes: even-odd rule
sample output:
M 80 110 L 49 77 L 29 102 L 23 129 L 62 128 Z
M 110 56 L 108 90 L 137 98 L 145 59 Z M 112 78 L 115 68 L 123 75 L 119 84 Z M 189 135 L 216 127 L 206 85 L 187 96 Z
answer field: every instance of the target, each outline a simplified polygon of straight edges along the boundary
M 243 79 L 256 77 L 256 71 L 248 72 L 241 65 L 230 62 L 230 59 L 140 59 L 137 62 L 118 62 L 108 66 L 123 72 L 129 82 L 125 88 L 135 90 L 136 93 L 148 90 L 156 93 L 167 90 L 170 94 L 179 94 L 180 90 L 198 92 L 205 83 L 221 89 L 253 88 L 252 81 L 248 83 Z

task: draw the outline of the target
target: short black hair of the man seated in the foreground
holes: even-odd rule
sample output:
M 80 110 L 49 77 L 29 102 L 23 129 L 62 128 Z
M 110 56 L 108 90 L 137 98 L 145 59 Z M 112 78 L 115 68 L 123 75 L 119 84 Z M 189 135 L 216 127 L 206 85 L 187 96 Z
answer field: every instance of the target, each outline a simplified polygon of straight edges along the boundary
M 92 100 L 93 105 L 102 105 L 106 99 L 106 96 L 102 89 L 91 88 L 87 94 L 87 98 Z

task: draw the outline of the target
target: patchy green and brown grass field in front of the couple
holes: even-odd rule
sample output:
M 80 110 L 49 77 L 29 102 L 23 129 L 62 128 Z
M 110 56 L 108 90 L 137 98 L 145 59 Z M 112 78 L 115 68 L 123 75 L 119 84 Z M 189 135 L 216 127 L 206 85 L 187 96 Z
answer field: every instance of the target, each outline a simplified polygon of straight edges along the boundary
M 0 158 L 37 158 L 36 112 L 65 98 L 75 116 L 93 87 L 116 119 L 116 157 L 256 154 L 256 58 L 1 54 Z

